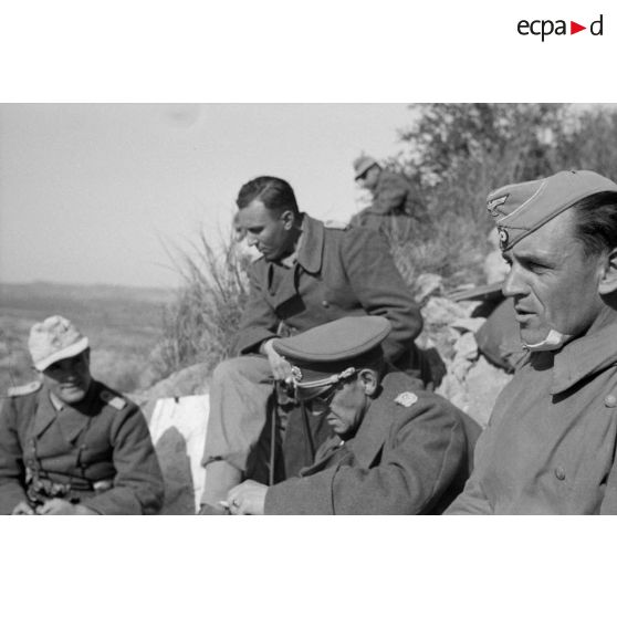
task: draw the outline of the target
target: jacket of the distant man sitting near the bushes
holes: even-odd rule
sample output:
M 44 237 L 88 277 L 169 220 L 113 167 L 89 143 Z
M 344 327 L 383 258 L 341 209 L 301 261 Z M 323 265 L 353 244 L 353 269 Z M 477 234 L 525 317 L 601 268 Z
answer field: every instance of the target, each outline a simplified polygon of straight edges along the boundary
M 417 224 L 429 221 L 426 206 L 400 174 L 383 170 L 373 190 L 373 202 L 352 218 L 352 224 L 408 239 Z

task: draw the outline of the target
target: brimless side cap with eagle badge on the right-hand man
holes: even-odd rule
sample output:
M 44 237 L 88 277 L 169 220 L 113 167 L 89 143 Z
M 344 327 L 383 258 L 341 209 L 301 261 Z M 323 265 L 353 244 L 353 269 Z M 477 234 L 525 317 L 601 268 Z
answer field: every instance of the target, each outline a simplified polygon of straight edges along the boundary
M 615 191 L 617 185 L 595 171 L 560 171 L 548 178 L 508 185 L 487 198 L 488 210 L 496 220 L 500 249 L 516 242 L 597 192 Z

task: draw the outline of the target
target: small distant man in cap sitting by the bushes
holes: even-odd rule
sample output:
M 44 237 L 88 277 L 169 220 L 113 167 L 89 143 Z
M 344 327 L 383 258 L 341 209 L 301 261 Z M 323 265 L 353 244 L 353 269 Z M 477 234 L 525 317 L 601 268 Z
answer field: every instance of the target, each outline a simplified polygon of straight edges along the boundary
M 390 242 L 400 243 L 429 222 L 418 190 L 402 174 L 388 171 L 372 156 L 363 155 L 354 160 L 354 175 L 372 194 L 373 202 L 354 215 L 352 226 L 381 231 Z

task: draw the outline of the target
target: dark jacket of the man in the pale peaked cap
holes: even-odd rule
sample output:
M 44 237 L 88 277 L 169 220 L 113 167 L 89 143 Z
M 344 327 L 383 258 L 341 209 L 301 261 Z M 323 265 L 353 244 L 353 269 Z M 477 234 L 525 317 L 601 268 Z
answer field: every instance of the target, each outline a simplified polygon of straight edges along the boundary
M 87 412 L 60 411 L 48 389 L 10 396 L 0 411 L 0 514 L 25 501 L 27 468 L 49 480 L 107 481 L 109 490 L 81 490 L 80 503 L 100 514 L 154 514 L 163 505 L 163 475 L 139 408 L 93 381 Z M 29 472 L 30 473 L 30 472 Z

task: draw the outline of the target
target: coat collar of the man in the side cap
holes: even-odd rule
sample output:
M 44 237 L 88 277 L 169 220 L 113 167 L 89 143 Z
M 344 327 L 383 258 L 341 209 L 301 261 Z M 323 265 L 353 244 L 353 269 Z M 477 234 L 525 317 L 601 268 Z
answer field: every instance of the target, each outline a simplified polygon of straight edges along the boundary
M 593 334 L 581 336 L 568 343 L 554 356 L 552 395 L 572 388 L 617 364 L 617 318 Z

